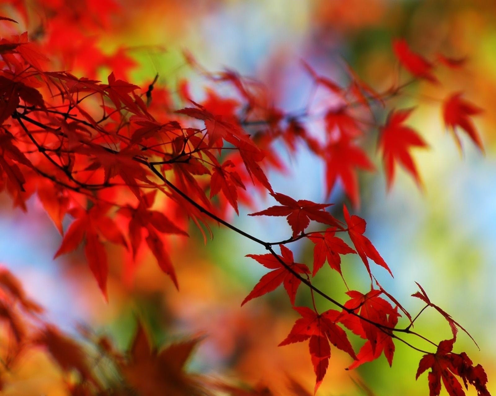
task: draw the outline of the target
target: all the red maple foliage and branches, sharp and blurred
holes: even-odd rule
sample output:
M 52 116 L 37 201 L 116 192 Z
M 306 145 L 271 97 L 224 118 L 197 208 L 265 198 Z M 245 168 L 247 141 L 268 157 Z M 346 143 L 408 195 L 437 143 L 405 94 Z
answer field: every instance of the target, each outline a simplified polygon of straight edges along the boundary
M 275 104 L 270 87 L 233 70 L 205 70 L 189 53 L 186 64 L 209 87 L 205 100 L 196 99 L 186 81 L 176 93 L 153 76 L 144 87 L 133 84 L 128 72 L 134 63 L 125 50 L 103 53 L 86 35 L 95 26 L 111 26 L 107 16 L 119 8 L 113 1 L 34 1 L 31 8 L 22 1 L 9 3 L 8 10 L 22 24 L 33 12 L 43 13 L 46 20 L 42 31 L 22 32 L 11 15 L 0 18 L 0 190 L 23 210 L 30 197 L 41 201 L 62 235 L 54 258 L 82 248 L 101 293 L 112 299 L 107 290 L 109 248 L 129 260 L 148 251 L 181 293 L 181 278 L 170 255 L 173 241 L 186 239 L 190 224 L 207 241 L 211 226 L 220 224 L 266 250 L 248 254 L 268 272 L 240 304 L 256 304 L 251 300 L 284 287 L 300 318 L 279 345 L 308 342 L 314 392 L 336 348 L 349 356 L 351 370 L 382 354 L 391 365 L 395 345 L 404 343 L 420 352 L 417 378 L 430 370 L 431 396 L 439 395 L 441 383 L 451 396 L 465 395 L 469 385 L 478 395 L 489 395 L 483 367 L 456 350 L 458 330 L 465 329 L 420 285 L 413 296 L 424 305 L 416 315 L 398 302 L 405 296 L 393 297 L 379 285 L 376 271 L 393 273 L 368 238 L 366 220 L 353 214 L 360 206 L 359 175 L 376 171 L 365 149 L 367 137 L 376 137 L 388 188 L 399 168 L 422 188 L 412 151 L 428 145 L 409 126 L 415 108 L 390 108 L 388 100 L 422 81 L 442 85 L 438 69 L 457 71 L 463 62 L 443 54 L 427 59 L 405 39 L 395 39 L 391 51 L 404 78 L 383 92 L 371 88 L 347 64 L 347 81 L 335 82 L 302 62 L 313 91 L 332 98 L 332 104 L 322 111 L 321 102 L 309 99 L 304 111 L 286 112 Z M 66 28 L 69 31 L 61 34 Z M 97 79 L 102 66 L 112 70 L 107 81 Z M 219 86 L 228 87 L 230 94 L 221 94 Z M 383 123 L 375 121 L 372 109 L 384 115 Z M 442 101 L 440 111 L 460 148 L 460 135 L 466 134 L 484 151 L 472 121 L 481 113 L 479 107 L 457 92 Z M 321 125 L 318 135 L 308 127 L 315 121 Z M 280 170 L 274 143 L 290 153 L 297 143 L 307 146 L 325 167 L 327 196 L 341 186 L 349 204 L 331 206 L 274 191 L 267 177 L 269 171 Z M 286 240 L 264 241 L 230 222 L 241 205 L 257 207 L 255 197 L 275 202 L 249 215 L 285 217 Z M 317 231 L 310 231 L 310 224 L 318 224 Z M 313 262 L 295 262 L 291 246 L 299 240 L 312 244 Z M 314 286 L 326 262 L 343 277 L 341 257 L 353 254 L 365 266 L 370 288 L 348 289 L 338 300 Z M 302 288 L 311 293 L 312 306 L 295 305 Z M 333 308 L 317 306 L 315 295 Z M 427 308 L 446 319 L 451 339 L 430 340 L 413 330 Z M 25 296 L 7 269 L 0 273 L 0 312 L 9 339 L 1 356 L 3 387 L 8 387 L 4 373 L 16 359 L 29 348 L 42 347 L 63 372 L 77 373 L 67 377 L 71 395 L 264 394 L 256 387 L 241 389 L 187 374 L 185 362 L 200 339 L 157 349 L 141 324 L 126 353 L 104 337 L 92 341 L 121 378 L 119 385 L 110 387 L 86 362 L 75 340 L 40 319 L 42 308 Z M 350 342 L 352 334 L 362 340 L 357 350 Z

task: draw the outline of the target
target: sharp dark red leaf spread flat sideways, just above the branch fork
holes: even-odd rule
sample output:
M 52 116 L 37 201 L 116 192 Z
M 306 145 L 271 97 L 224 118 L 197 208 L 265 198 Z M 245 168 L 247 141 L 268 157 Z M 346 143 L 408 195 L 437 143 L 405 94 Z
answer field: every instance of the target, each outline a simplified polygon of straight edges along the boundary
M 341 228 L 339 221 L 325 211 L 325 208 L 331 205 L 330 203 L 315 203 L 307 199 L 296 200 L 281 193 L 270 195 L 282 205 L 274 205 L 259 212 L 250 213 L 248 216 L 287 216 L 286 220 L 293 230 L 293 238 L 305 231 L 310 220 Z

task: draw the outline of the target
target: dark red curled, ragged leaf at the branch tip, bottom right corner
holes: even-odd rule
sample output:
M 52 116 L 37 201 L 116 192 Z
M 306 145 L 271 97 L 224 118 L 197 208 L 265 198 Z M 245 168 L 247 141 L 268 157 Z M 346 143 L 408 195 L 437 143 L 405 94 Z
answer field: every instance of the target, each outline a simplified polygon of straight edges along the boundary
M 438 396 L 441 392 L 441 379 L 450 396 L 465 396 L 465 392 L 455 375 L 462 378 L 465 388 L 473 385 L 479 396 L 490 396 L 486 387 L 488 377 L 480 364 L 473 366 L 465 352 L 453 353 L 455 339 L 439 343 L 435 353 L 428 353 L 420 359 L 416 379 L 426 371 L 429 372 L 429 396 Z

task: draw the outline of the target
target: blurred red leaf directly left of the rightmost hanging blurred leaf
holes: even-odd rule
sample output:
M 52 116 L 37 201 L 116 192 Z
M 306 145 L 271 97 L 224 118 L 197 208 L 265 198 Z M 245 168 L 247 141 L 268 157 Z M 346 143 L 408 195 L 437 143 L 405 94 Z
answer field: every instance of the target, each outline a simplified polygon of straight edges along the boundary
M 418 185 L 420 176 L 415 162 L 409 152 L 412 147 L 427 147 L 424 140 L 403 122 L 410 116 L 413 108 L 391 110 L 386 125 L 380 129 L 378 147 L 382 150 L 382 162 L 386 172 L 387 188 L 391 188 L 394 180 L 395 162 L 400 163 L 409 172 Z

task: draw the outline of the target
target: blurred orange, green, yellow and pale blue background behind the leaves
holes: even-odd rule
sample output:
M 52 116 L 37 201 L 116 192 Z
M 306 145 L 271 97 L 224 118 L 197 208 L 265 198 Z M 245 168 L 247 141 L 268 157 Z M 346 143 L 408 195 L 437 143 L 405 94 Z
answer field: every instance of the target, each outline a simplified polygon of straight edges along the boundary
M 202 82 L 185 65 L 188 49 L 205 68 L 223 67 L 253 76 L 276 87 L 278 104 L 301 108 L 310 80 L 301 67 L 305 59 L 321 74 L 342 81 L 345 58 L 377 90 L 391 83 L 397 61 L 391 40 L 405 37 L 426 56 L 443 51 L 468 57 L 462 72 L 445 70 L 442 86 L 421 83 L 395 102 L 418 106 L 410 125 L 430 149 L 416 154 L 425 190 L 420 191 L 402 171 L 389 193 L 380 170 L 373 140 L 367 151 L 378 172 L 361 178 L 359 214 L 368 221 L 367 234 L 395 275 L 378 273 L 381 284 L 412 313 L 422 307 L 409 297 L 419 282 L 431 299 L 460 322 L 481 350 L 464 334 L 457 350 L 466 350 L 489 376 L 496 391 L 496 3 L 491 0 L 123 0 L 124 14 L 116 29 L 98 36 L 105 51 L 124 46 L 136 62 L 131 82 L 146 87 L 159 73 L 159 84 L 171 91 L 181 78 L 192 79 L 199 95 Z M 99 70 L 105 81 L 109 69 Z M 451 73 L 451 74 L 450 74 Z M 485 109 L 476 125 L 486 147 L 482 155 L 467 140 L 463 154 L 444 131 L 438 99 L 463 91 Z M 323 166 L 304 146 L 291 160 L 281 147 L 286 171 L 269 180 L 275 191 L 294 198 L 326 201 Z M 341 202 L 335 189 L 330 201 Z M 12 210 L 0 197 L 0 261 L 22 279 L 29 295 L 47 307 L 47 318 L 76 334 L 79 324 L 112 337 L 125 348 L 134 332 L 136 316 L 146 322 L 157 343 L 197 333 L 207 337 L 190 369 L 231 378 L 281 392 L 294 379 L 309 392 L 314 374 L 307 343 L 277 347 L 289 332 L 296 313 L 282 290 L 251 301 L 241 301 L 263 273 L 248 253 L 259 247 L 224 229 L 203 245 L 191 228 L 192 241 L 178 243 L 174 262 L 180 280 L 178 293 L 156 268 L 153 257 L 135 269 L 134 279 L 123 279 L 119 253 L 110 279 L 110 302 L 101 297 L 79 253 L 52 260 L 61 237 L 41 204 L 30 201 L 28 214 Z M 273 201 L 260 199 L 259 208 Z M 284 219 L 253 218 L 241 210 L 234 223 L 261 239 L 289 235 Z M 67 219 L 66 219 L 67 220 Z M 194 247 L 194 248 L 192 248 Z M 111 253 L 112 254 L 112 253 Z M 311 262 L 312 244 L 295 247 L 299 262 Z M 319 284 L 331 295 L 344 291 L 329 268 Z M 367 288 L 367 276 L 357 257 L 344 257 L 345 277 Z M 300 291 L 297 304 L 308 304 Z M 322 309 L 324 301 L 318 301 Z M 328 307 L 330 308 L 330 306 Z M 325 308 L 327 309 L 327 308 Z M 449 327 L 427 312 L 416 328 L 427 336 L 448 338 Z M 426 395 L 427 375 L 415 381 L 420 354 L 396 345 L 392 368 L 384 357 L 349 372 L 349 357 L 333 352 L 319 395 L 363 395 L 364 385 L 375 395 Z M 54 374 L 55 375 L 55 374 Z M 19 381 L 22 381 L 21 379 Z M 45 373 L 45 379 L 48 381 Z M 55 388 L 54 388 L 55 389 Z M 55 392 L 55 391 L 54 391 Z M 444 390 L 442 392 L 445 392 Z M 469 395 L 471 394 L 469 391 Z M 311 393 L 311 392 L 310 392 Z M 55 393 L 54 393 L 55 394 Z

